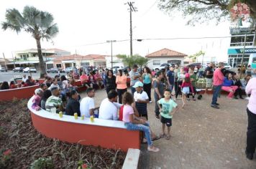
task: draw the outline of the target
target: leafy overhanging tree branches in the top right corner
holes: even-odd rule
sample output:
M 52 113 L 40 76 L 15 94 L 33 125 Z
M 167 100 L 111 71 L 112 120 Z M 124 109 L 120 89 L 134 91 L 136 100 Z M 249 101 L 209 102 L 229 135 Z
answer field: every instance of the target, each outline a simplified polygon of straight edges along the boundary
M 227 19 L 229 9 L 239 0 L 160 0 L 158 7 L 174 16 L 176 11 L 182 11 L 188 18 L 187 24 L 216 19 L 217 22 Z M 252 20 L 256 19 L 256 1 L 244 1 L 250 7 Z

